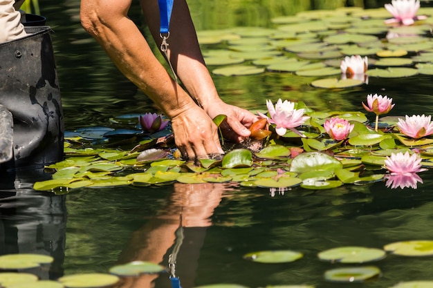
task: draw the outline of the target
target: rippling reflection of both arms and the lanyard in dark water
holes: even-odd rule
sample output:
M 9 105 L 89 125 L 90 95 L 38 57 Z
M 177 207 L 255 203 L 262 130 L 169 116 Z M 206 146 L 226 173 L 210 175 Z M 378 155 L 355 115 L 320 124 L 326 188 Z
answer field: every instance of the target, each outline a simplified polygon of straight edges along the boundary
M 182 287 L 194 287 L 200 249 L 206 229 L 212 225 L 214 209 L 224 193 L 233 190 L 234 186 L 224 184 L 174 184 L 167 205 L 131 234 L 119 262 L 168 263 L 170 277 L 180 278 Z M 118 287 L 153 287 L 154 281 L 156 287 L 172 287 L 168 275 L 157 278 L 157 274 L 125 278 Z

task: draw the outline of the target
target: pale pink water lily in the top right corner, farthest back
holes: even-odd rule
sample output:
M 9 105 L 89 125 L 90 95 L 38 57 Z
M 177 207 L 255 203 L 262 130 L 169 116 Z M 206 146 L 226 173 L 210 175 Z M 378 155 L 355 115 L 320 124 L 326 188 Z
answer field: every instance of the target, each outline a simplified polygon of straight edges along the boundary
M 402 23 L 409 26 L 415 20 L 427 19 L 424 15 L 416 16 L 416 12 L 420 8 L 419 0 L 392 0 L 391 4 L 385 4 L 385 8 L 394 17 L 385 20 L 385 23 Z

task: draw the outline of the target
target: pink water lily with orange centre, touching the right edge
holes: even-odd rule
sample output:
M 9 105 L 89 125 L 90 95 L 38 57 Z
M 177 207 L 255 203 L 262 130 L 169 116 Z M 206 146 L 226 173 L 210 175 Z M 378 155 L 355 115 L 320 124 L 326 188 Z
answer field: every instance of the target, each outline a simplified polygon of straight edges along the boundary
M 433 134 L 432 117 L 425 115 L 405 116 L 405 120 L 399 118 L 397 122 L 398 129 L 406 136 L 418 139 Z

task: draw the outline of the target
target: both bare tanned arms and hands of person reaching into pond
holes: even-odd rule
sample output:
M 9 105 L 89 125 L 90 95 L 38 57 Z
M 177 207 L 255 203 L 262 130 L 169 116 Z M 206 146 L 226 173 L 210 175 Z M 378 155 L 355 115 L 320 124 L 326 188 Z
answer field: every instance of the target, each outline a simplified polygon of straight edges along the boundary
M 223 102 L 205 66 L 185 0 L 174 1 L 167 60 L 186 90 L 159 63 L 138 27 L 127 17 L 132 0 L 82 0 L 83 28 L 104 48 L 114 64 L 172 120 L 176 146 L 183 157 L 223 153 L 212 118 L 227 115 L 223 134 L 241 142 L 257 117 Z M 160 46 L 158 1 L 141 0 L 147 26 Z

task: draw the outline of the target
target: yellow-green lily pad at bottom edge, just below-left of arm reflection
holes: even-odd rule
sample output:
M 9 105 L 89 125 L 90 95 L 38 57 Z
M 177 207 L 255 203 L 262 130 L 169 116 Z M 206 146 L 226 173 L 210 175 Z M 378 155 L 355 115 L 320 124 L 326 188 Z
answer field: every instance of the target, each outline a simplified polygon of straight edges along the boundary
M 79 273 L 60 277 L 58 281 L 68 288 L 96 288 L 116 284 L 119 278 L 105 273 Z

